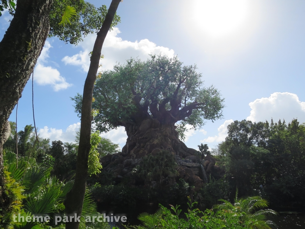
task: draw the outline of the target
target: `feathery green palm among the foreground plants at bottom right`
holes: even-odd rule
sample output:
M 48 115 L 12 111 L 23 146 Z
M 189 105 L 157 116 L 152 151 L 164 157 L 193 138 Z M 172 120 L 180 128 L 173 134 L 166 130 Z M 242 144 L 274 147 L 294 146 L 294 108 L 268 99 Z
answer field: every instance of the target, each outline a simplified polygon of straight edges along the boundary
M 277 215 L 277 212 L 267 208 L 269 203 L 260 196 L 247 198 L 237 198 L 238 190 L 234 199 L 234 204 L 221 199 L 222 204 L 214 205 L 214 209 L 231 211 L 240 215 L 240 221 L 246 228 L 271 229 L 275 225 L 271 220 L 266 220 L 266 215 Z

